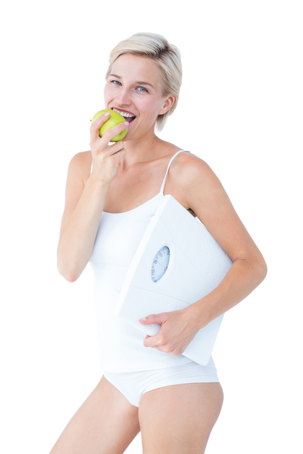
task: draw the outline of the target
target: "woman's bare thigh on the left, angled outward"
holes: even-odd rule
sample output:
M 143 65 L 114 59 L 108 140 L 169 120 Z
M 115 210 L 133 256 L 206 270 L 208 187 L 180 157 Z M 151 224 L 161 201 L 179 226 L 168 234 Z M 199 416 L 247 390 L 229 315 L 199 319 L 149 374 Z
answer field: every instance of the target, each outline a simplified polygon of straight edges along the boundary
M 53 444 L 51 454 L 121 454 L 140 432 L 138 407 L 101 375 Z

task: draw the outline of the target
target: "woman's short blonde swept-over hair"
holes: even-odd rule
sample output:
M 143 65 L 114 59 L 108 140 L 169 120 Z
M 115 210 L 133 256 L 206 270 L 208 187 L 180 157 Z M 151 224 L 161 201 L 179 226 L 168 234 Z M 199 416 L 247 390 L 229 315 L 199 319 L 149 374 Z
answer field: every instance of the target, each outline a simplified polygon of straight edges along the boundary
M 184 52 L 177 44 L 175 38 L 168 38 L 162 31 L 155 31 L 153 27 L 142 31 L 138 29 L 135 32 L 126 30 L 128 36 L 111 41 L 107 48 L 107 58 L 102 65 L 103 75 L 102 82 L 106 83 L 114 61 L 122 54 L 141 55 L 150 57 L 158 66 L 161 74 L 162 93 L 161 96 L 175 96 L 170 109 L 162 115 L 158 115 L 155 122 L 155 133 L 162 136 L 165 133 L 167 124 L 172 118 L 175 118 L 182 105 L 182 93 L 184 83 L 188 82 L 188 72 L 185 71 L 187 62 L 184 60 Z

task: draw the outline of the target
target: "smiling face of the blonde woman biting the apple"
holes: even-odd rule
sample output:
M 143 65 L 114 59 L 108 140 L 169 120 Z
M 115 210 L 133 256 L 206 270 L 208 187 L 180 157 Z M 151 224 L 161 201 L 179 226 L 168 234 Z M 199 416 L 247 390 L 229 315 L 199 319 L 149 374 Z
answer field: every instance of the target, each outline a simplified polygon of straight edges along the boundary
M 114 107 L 136 116 L 123 142 L 155 136 L 158 115 L 165 114 L 175 101 L 174 96 L 163 99 L 161 89 L 160 71 L 150 58 L 123 54 L 115 60 L 102 98 L 105 109 Z

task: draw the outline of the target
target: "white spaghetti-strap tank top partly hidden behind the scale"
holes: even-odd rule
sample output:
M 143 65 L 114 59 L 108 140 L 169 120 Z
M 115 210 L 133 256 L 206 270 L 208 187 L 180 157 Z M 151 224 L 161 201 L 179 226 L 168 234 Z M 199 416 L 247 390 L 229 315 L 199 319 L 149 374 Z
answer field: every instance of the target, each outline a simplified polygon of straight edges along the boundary
M 135 372 L 192 362 L 183 355 L 176 356 L 156 348 L 146 348 L 143 345 L 145 333 L 113 314 L 131 260 L 151 218 L 164 198 L 167 172 L 172 161 L 182 151 L 193 153 L 189 148 L 175 153 L 168 164 L 160 192 L 153 199 L 125 213 L 102 211 L 94 249 L 89 259 L 89 269 L 92 272 L 94 326 L 101 371 Z

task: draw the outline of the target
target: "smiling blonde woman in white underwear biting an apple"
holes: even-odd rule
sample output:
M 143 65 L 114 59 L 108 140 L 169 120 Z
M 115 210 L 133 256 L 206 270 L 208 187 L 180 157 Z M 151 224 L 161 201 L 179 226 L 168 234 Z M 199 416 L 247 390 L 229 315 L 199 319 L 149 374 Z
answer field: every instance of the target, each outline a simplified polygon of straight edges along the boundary
M 103 105 L 129 120 L 99 137 L 105 115 L 89 126 L 88 150 L 70 160 L 57 273 L 78 282 L 89 263 L 94 323 L 103 372 L 63 428 L 53 454 L 121 454 L 138 433 L 144 454 L 204 453 L 224 408 L 214 355 L 202 366 L 182 353 L 199 329 L 247 299 L 267 265 L 207 162 L 155 135 L 180 105 L 182 51 L 148 31 L 117 40 L 104 72 Z M 128 128 L 116 143 L 111 139 Z M 159 134 L 160 135 L 160 134 Z M 159 192 L 160 191 L 160 192 Z M 148 316 L 145 336 L 113 315 L 136 248 L 165 194 L 197 216 L 233 265 L 221 284 L 182 311 Z

